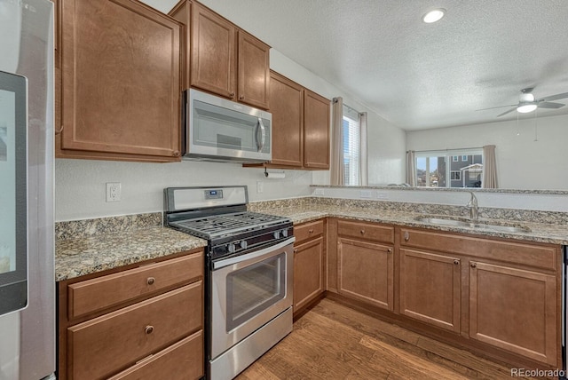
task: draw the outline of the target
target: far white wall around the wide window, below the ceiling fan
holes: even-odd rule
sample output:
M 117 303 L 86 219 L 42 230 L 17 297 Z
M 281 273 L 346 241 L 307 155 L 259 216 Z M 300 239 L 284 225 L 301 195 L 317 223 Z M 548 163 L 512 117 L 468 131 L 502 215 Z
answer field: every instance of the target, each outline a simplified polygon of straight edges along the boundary
M 499 186 L 512 189 L 568 190 L 566 141 L 568 115 L 406 132 L 408 150 L 495 145 Z

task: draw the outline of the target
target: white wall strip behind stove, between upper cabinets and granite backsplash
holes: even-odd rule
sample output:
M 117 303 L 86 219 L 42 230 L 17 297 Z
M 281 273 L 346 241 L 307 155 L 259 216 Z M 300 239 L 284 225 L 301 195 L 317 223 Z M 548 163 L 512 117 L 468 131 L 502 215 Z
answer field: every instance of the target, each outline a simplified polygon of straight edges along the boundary
M 284 179 L 266 179 L 264 170 L 242 168 L 235 163 L 58 159 L 55 162 L 55 220 L 162 211 L 163 189 L 170 186 L 247 185 L 250 201 L 310 194 L 312 172 L 285 170 L 285 173 Z M 262 194 L 256 192 L 258 181 L 264 187 Z M 106 182 L 121 183 L 120 202 L 106 202 Z

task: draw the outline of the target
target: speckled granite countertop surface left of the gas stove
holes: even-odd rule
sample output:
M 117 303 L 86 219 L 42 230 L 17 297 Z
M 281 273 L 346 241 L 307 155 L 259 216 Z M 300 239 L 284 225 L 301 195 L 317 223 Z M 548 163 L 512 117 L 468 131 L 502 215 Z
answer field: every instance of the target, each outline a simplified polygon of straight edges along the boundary
M 58 240 L 55 281 L 205 246 L 207 241 L 162 226 Z

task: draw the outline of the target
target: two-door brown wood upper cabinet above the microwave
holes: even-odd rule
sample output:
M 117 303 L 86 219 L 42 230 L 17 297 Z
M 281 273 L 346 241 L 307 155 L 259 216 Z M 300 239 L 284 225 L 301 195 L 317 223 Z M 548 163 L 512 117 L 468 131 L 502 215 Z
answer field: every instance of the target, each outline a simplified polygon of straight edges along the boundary
M 170 15 L 185 24 L 184 87 L 268 109 L 270 46 L 197 2 Z

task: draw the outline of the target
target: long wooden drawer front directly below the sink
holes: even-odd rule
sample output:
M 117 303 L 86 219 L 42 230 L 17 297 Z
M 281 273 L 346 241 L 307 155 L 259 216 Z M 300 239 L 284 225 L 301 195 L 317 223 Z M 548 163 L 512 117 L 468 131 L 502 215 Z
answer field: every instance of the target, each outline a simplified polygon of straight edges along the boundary
M 530 265 L 549 270 L 558 269 L 559 247 L 525 242 L 493 241 L 457 234 L 433 233 L 402 228 L 400 245 L 435 249 L 454 254 L 484 257 L 518 265 Z

